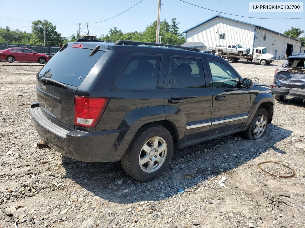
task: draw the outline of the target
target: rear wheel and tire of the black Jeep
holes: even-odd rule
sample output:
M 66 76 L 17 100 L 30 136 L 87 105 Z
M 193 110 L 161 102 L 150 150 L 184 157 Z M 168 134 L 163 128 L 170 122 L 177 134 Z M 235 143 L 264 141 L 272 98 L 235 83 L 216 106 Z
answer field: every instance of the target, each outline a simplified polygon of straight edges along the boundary
M 138 181 L 150 181 L 160 176 L 170 163 L 174 151 L 169 131 L 156 124 L 136 133 L 121 158 L 124 171 Z

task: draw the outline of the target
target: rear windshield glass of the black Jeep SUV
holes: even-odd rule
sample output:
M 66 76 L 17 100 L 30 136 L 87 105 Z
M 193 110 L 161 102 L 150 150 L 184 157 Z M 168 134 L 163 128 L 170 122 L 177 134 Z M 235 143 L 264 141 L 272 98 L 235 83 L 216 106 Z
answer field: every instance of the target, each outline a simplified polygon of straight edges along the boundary
M 40 74 L 52 74 L 51 79 L 73 86 L 80 86 L 104 51 L 89 57 L 91 49 L 67 47 L 57 52 L 40 70 Z M 78 79 L 81 77 L 80 79 Z

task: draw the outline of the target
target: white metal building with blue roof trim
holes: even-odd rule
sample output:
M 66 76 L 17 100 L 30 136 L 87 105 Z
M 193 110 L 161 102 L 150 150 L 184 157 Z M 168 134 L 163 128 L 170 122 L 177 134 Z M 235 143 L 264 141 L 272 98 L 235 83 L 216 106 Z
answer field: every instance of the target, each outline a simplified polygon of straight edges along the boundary
M 184 31 L 186 42 L 202 42 L 208 49 L 217 45 L 239 43 L 243 47 L 266 47 L 274 59 L 285 59 L 285 55 L 300 53 L 301 42 L 282 33 L 248 22 L 216 15 Z

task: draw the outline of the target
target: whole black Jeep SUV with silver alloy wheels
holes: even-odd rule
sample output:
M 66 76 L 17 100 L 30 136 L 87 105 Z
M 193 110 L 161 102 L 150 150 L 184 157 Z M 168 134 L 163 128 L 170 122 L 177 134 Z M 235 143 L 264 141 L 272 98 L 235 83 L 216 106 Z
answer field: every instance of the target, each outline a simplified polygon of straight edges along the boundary
M 139 181 L 158 177 L 174 148 L 260 138 L 274 111 L 271 90 L 221 57 L 127 40 L 66 43 L 38 72 L 36 92 L 31 116 L 46 145 L 79 161 L 121 161 Z

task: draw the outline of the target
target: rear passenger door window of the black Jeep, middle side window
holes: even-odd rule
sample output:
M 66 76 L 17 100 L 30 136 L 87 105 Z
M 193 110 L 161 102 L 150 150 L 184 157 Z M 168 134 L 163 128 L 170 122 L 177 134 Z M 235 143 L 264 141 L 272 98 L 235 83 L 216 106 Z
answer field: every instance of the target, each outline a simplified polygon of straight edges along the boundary
M 170 58 L 170 88 L 205 88 L 203 65 L 200 59 Z

